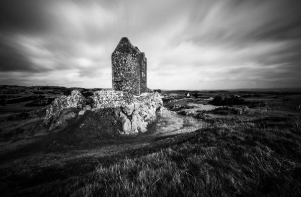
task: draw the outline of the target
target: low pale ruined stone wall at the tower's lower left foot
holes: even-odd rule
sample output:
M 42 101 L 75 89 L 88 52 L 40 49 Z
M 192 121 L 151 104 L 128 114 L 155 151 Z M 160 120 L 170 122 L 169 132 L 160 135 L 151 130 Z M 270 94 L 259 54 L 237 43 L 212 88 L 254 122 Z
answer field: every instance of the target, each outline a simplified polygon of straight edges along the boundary
M 133 95 L 128 92 L 114 90 L 100 90 L 93 92 L 92 99 L 96 110 L 109 107 L 120 107 L 133 101 Z

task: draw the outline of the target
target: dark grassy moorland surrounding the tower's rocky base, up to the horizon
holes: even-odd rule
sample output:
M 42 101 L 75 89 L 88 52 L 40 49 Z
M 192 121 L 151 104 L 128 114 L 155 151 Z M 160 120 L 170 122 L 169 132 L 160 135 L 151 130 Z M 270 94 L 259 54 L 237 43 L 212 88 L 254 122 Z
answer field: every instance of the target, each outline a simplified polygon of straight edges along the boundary
M 301 196 L 299 92 L 161 91 L 145 133 L 108 134 L 92 111 L 45 131 L 45 106 L 73 89 L 0 87 L 1 195 Z

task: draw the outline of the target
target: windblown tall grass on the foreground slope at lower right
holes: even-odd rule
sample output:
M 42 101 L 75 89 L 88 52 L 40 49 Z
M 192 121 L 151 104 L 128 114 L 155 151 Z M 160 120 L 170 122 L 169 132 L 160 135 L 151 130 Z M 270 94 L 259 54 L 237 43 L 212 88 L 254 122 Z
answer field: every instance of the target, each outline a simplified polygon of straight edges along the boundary
M 221 124 L 166 139 L 149 154 L 100 163 L 62 193 L 72 196 L 298 196 L 300 130 Z M 267 124 L 268 125 L 268 124 Z M 289 124 L 287 124 L 289 126 Z

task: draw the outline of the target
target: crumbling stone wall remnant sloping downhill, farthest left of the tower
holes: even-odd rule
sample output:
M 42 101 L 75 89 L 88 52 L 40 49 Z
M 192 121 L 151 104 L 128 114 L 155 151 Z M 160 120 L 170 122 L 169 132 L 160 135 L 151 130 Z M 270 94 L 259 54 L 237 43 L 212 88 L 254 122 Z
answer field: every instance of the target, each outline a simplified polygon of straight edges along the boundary
M 73 90 L 68 96 L 55 98 L 54 101 L 46 107 L 44 124 L 47 126 L 55 117 L 59 116 L 61 110 L 66 108 L 82 108 L 84 104 L 85 98 L 78 90 Z

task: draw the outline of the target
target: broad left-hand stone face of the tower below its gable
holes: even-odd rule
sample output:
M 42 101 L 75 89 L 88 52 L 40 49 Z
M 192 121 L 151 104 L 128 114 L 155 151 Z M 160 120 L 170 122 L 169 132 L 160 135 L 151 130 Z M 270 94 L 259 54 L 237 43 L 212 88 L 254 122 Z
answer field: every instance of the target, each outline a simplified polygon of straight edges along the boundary
M 140 94 L 139 62 L 139 53 L 115 51 L 112 54 L 112 90 Z

